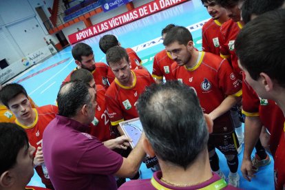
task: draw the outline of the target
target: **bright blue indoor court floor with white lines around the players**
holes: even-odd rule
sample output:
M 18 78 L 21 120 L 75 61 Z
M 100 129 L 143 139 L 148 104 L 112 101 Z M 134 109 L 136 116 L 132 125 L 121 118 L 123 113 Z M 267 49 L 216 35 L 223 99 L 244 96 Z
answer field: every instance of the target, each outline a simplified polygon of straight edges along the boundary
M 131 47 L 137 52 L 140 59 L 142 59 L 143 65 L 151 72 L 154 55 L 164 48 L 160 34 L 166 25 L 174 23 L 189 28 L 196 48 L 201 50 L 202 23 L 209 18 L 209 14 L 202 6 L 200 0 L 187 1 L 168 10 L 99 34 L 83 42 L 92 46 L 97 62 L 105 62 L 105 54 L 99 49 L 98 41 L 105 34 L 115 34 L 123 47 Z M 71 50 L 72 46 L 65 48 L 45 62 L 35 65 L 28 72 L 14 78 L 13 82 L 23 85 L 37 105 L 55 105 L 56 94 L 59 92 L 61 82 L 76 67 Z M 220 168 L 227 176 L 229 169 L 226 165 L 226 160 L 220 152 L 219 156 Z M 239 160 L 241 165 L 242 154 L 239 155 Z M 64 160 L 59 160 L 59 162 L 64 162 Z M 141 165 L 140 170 L 142 171 L 142 178 L 151 178 L 152 171 L 147 169 L 145 164 Z M 267 167 L 260 168 L 252 182 L 244 180 L 240 170 L 239 173 L 240 187 L 242 189 L 274 189 L 273 161 Z M 30 185 L 43 187 L 36 173 Z

